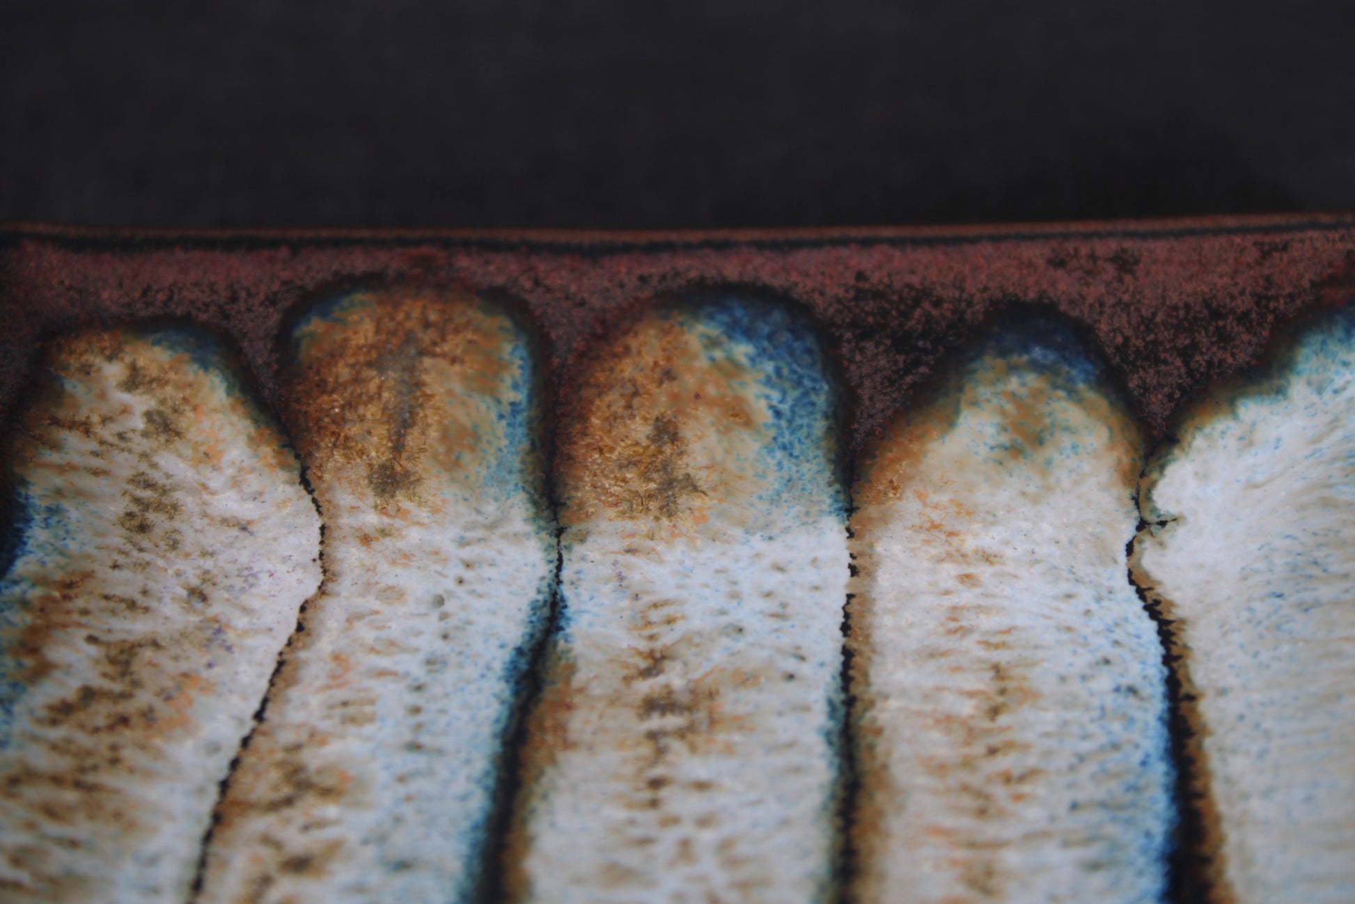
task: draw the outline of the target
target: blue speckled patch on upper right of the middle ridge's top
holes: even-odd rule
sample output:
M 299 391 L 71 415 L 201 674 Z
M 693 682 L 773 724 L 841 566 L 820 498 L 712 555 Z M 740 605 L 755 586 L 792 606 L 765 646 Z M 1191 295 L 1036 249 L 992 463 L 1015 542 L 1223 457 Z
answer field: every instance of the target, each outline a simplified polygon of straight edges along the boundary
M 696 331 L 707 361 L 733 351 L 756 379 L 753 390 L 766 400 L 771 440 L 760 457 L 778 480 L 757 500 L 767 507 L 813 500 L 846 519 L 835 430 L 839 393 L 827 377 L 813 325 L 786 305 L 733 294 L 695 300 L 682 317 L 713 331 Z

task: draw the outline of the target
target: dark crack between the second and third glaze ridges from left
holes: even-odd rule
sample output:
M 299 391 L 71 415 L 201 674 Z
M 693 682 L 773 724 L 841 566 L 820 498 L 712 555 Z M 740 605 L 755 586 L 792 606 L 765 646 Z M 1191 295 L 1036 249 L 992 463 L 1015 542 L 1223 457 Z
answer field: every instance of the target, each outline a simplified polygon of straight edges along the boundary
M 518 701 L 509 714 L 503 732 L 503 741 L 499 747 L 499 768 L 495 777 L 495 793 L 491 798 L 489 815 L 485 819 L 482 831 L 482 851 L 476 874 L 470 877 L 467 901 L 474 904 L 500 904 L 507 900 L 505 858 L 508 842 L 512 832 L 514 812 L 518 801 L 530 789 L 523 782 L 523 767 L 530 744 L 528 729 L 530 716 L 541 705 L 550 676 L 546 674 L 550 661 L 550 648 L 560 633 L 560 619 L 564 617 L 564 596 L 560 591 L 560 579 L 565 567 L 565 552 L 561 538 L 565 529 L 560 525 L 560 503 L 549 491 L 547 484 L 547 511 L 556 534 L 556 567 L 550 579 L 550 592 L 546 599 L 546 613 L 539 636 L 524 644 L 523 656 L 527 657 L 523 668 L 522 687 L 518 690 Z

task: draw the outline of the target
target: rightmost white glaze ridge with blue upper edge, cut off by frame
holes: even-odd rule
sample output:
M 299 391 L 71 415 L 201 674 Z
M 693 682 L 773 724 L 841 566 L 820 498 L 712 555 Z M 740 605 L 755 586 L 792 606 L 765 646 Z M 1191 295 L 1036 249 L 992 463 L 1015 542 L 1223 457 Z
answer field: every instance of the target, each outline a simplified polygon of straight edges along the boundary
M 1214 900 L 1355 900 L 1355 314 L 1177 435 L 1134 565 L 1190 667 Z

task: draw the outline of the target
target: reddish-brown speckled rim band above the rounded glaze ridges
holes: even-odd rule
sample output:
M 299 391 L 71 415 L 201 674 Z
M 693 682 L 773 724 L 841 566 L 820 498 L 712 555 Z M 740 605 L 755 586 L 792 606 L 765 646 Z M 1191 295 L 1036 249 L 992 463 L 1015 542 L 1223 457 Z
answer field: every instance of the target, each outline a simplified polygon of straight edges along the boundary
M 141 317 L 229 335 L 276 404 L 283 317 L 398 281 L 519 300 L 557 369 L 640 298 L 730 285 L 797 300 L 841 356 L 851 449 L 982 321 L 1045 306 L 1095 337 L 1156 436 L 1186 396 L 1253 363 L 1276 324 L 1355 293 L 1355 214 L 679 233 L 0 224 L 4 423 L 45 336 Z

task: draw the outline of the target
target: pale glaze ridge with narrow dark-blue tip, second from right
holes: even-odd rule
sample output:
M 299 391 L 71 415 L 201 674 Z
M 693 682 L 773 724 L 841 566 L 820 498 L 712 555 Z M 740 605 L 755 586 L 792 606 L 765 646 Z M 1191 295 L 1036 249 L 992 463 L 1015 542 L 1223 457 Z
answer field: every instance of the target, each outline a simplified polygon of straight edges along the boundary
M 1160 901 L 1163 649 L 1126 580 L 1140 439 L 1053 325 L 1003 331 L 856 482 L 860 904 Z

